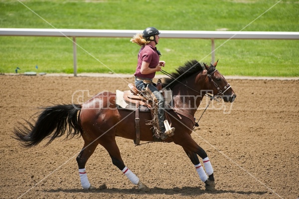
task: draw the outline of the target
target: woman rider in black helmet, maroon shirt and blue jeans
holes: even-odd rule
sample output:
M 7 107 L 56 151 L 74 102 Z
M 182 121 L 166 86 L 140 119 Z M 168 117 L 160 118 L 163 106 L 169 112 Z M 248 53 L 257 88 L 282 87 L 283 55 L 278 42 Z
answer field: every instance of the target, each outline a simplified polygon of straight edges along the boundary
M 162 94 L 152 84 L 152 79 L 156 71 L 161 71 L 162 66 L 165 66 L 165 61 L 160 61 L 161 53 L 156 49 L 156 44 L 159 42 L 160 32 L 155 27 L 148 27 L 143 31 L 143 34 L 137 33 L 131 41 L 142 46 L 138 53 L 138 64 L 135 72 L 135 86 L 138 90 L 146 88 L 154 94 L 158 101 L 158 121 L 162 135 L 161 139 L 166 139 L 167 136 L 172 136 L 175 128 L 166 131 L 164 127 L 164 108 L 165 101 Z

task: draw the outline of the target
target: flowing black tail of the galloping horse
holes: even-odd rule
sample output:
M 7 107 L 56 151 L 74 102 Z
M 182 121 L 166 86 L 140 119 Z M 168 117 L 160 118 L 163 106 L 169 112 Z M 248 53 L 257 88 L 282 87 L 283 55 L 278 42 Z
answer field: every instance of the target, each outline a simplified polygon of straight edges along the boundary
M 19 124 L 13 129 L 16 140 L 20 141 L 24 147 L 33 147 L 45 138 L 50 138 L 50 144 L 55 138 L 61 137 L 67 132 L 66 138 L 72 138 L 83 130 L 79 124 L 78 111 L 79 104 L 56 105 L 46 107 L 38 116 L 35 124 L 26 121 L 29 127 Z M 74 132 L 72 132 L 74 130 Z M 81 135 L 80 134 L 80 135 Z

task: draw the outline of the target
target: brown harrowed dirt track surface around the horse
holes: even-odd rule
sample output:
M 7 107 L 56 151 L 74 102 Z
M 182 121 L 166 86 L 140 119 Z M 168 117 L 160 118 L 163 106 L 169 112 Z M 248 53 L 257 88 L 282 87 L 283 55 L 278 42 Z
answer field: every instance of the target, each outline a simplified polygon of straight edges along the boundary
M 0 198 L 298 199 L 299 81 L 228 81 L 237 94 L 229 114 L 228 109 L 207 110 L 192 133 L 211 160 L 217 191 L 204 190 L 180 146 L 135 147 L 132 140 L 117 138 L 126 166 L 150 192 L 140 192 L 102 146 L 86 165 L 89 181 L 97 188 L 88 192 L 81 188 L 76 163 L 81 137 L 24 149 L 11 138 L 12 130 L 39 107 L 72 103 L 77 90 L 86 90 L 85 101 L 103 90 L 127 90 L 133 78 L 0 75 Z M 196 112 L 197 119 L 202 111 Z

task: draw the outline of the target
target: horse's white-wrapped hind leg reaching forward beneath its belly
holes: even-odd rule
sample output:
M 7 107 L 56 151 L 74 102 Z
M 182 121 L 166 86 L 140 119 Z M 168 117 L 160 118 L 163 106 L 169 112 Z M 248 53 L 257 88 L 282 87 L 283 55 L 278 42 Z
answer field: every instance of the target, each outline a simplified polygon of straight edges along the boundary
M 143 184 L 130 169 L 125 166 L 115 138 L 109 138 L 109 140 L 102 139 L 100 144 L 108 151 L 112 159 L 112 163 L 117 166 L 134 185 L 138 185 L 141 191 L 149 192 L 149 188 L 145 184 Z

